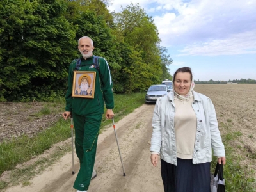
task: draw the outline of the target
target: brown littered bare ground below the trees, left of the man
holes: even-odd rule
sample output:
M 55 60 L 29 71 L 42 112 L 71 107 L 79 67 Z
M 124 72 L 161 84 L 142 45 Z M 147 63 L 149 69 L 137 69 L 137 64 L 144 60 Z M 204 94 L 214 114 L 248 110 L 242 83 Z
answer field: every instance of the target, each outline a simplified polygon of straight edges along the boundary
M 51 114 L 47 114 L 47 109 L 51 109 Z M 0 102 L 0 142 L 44 131 L 60 118 L 61 111 L 60 104 L 47 102 Z

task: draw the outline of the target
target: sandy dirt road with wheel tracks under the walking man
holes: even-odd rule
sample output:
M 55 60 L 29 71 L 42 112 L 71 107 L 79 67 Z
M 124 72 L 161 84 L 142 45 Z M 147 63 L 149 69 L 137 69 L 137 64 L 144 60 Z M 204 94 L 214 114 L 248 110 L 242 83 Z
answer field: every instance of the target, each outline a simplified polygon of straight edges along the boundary
M 116 122 L 116 132 L 124 162 L 126 176 L 116 145 L 113 126 L 99 135 L 95 170 L 97 177 L 92 180 L 88 192 L 162 192 L 160 164 L 154 168 L 150 163 L 150 138 L 152 134 L 152 113 L 154 104 L 143 104 L 130 115 Z M 14 186 L 7 192 L 63 192 L 76 191 L 72 188 L 79 170 L 75 157 L 75 174 L 72 175 L 72 156 L 66 154 L 60 161 L 37 175 L 29 186 Z

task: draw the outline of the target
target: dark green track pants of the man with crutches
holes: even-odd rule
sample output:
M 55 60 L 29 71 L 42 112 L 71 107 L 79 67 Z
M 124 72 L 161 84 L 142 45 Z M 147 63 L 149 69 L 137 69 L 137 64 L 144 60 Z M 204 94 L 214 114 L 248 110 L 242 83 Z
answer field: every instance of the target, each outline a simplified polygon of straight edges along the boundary
M 80 161 L 80 170 L 73 187 L 80 191 L 87 191 L 95 162 L 102 113 L 86 117 L 73 114 L 73 119 L 76 154 Z

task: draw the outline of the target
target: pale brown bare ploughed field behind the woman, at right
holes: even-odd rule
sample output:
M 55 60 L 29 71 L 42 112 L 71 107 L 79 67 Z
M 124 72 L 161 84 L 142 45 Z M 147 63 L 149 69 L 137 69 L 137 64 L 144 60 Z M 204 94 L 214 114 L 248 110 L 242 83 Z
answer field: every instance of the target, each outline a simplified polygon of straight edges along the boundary
M 237 157 L 243 156 L 241 163 L 255 170 L 256 178 L 256 84 L 196 84 L 195 91 L 211 98 L 221 135 L 241 132 L 230 145 Z

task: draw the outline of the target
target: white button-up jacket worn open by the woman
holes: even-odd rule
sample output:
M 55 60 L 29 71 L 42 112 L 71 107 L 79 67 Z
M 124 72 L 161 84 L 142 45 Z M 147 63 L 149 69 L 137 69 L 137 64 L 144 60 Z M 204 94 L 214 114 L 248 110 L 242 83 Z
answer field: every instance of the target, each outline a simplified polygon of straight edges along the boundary
M 177 165 L 177 148 L 174 129 L 174 92 L 157 100 L 152 118 L 151 152 L 160 153 L 161 159 Z M 212 161 L 214 156 L 225 157 L 225 148 L 221 140 L 215 108 L 211 99 L 193 91 L 192 108 L 196 114 L 196 139 L 193 152 L 193 164 Z

